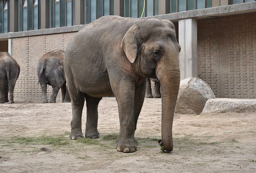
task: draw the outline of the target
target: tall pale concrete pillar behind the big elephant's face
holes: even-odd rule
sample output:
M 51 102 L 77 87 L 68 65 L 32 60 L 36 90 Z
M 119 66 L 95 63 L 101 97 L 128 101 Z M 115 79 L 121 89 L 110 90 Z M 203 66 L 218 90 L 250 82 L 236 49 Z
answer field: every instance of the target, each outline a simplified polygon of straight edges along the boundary
M 197 78 L 197 21 L 179 20 L 180 80 Z

